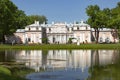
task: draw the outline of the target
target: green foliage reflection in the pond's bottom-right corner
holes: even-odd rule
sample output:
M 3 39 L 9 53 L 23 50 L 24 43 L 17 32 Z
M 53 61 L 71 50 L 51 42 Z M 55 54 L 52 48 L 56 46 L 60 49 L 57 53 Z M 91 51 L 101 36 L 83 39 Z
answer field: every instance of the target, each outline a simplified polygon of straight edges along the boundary
M 106 66 L 93 66 L 90 68 L 91 76 L 87 80 L 119 80 L 120 64 Z

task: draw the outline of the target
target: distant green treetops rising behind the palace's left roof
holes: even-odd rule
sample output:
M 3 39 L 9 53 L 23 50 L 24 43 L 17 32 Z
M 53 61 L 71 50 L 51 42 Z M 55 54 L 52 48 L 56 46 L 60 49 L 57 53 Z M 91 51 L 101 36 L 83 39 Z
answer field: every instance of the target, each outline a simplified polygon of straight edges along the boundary
M 28 18 L 28 24 L 34 23 L 34 21 L 39 21 L 40 24 L 42 23 L 47 23 L 47 18 L 45 16 L 40 16 L 40 15 L 30 15 L 27 16 Z

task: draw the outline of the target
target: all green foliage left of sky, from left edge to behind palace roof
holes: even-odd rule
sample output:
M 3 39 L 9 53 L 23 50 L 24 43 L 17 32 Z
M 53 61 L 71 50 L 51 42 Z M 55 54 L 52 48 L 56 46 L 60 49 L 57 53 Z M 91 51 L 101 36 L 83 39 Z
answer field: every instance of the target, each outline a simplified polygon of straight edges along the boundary
M 32 24 L 35 20 L 47 23 L 45 16 L 26 16 L 11 0 L 0 0 L 0 42 L 5 42 L 5 36 L 13 34 L 18 28 Z

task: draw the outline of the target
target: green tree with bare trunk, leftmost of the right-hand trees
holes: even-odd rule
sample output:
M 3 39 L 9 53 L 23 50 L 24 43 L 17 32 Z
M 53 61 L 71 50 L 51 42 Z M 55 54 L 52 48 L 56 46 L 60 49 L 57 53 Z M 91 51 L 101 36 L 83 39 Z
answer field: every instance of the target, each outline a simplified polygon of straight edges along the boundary
M 86 8 L 86 13 L 89 16 L 88 18 L 88 24 L 92 26 L 95 30 L 95 40 L 96 43 L 98 43 L 98 38 L 99 38 L 99 19 L 97 19 L 99 16 L 100 8 L 97 5 L 90 5 Z

